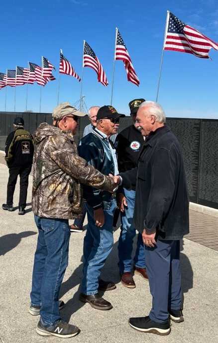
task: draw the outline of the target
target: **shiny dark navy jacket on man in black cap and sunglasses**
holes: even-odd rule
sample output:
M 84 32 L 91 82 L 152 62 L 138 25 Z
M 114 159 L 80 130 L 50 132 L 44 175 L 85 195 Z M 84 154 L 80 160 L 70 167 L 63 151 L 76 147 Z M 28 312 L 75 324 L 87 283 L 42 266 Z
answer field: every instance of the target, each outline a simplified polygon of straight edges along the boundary
M 107 138 L 104 138 L 104 136 L 94 129 L 92 133 L 82 138 L 78 147 L 78 154 L 89 165 L 92 165 L 103 174 L 114 174 L 114 163 L 109 145 L 114 148 Z M 108 208 L 110 206 L 109 203 L 112 194 L 105 190 L 83 185 L 83 196 L 93 209 L 98 209 L 101 207 Z

